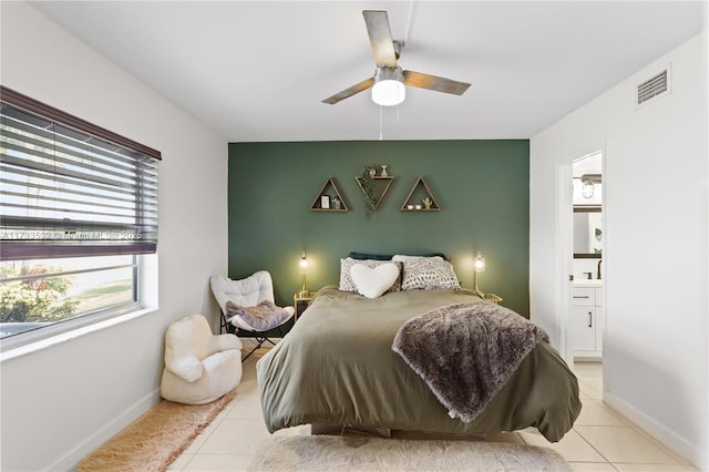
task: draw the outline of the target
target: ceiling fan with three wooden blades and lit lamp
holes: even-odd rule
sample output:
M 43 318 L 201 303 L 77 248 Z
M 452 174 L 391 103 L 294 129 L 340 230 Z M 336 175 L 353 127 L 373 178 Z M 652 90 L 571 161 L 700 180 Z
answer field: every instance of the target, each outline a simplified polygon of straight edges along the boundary
M 405 98 L 405 85 L 420 89 L 434 90 L 436 92 L 462 95 L 470 83 L 458 82 L 421 72 L 402 71 L 397 65 L 397 59 L 401 52 L 402 43 L 391 38 L 389 16 L 386 11 L 364 10 L 364 22 L 369 33 L 369 41 L 374 53 L 377 71 L 374 76 L 363 80 L 349 89 L 336 93 L 322 101 L 331 105 L 368 89 L 372 89 L 372 100 L 383 106 L 398 105 Z

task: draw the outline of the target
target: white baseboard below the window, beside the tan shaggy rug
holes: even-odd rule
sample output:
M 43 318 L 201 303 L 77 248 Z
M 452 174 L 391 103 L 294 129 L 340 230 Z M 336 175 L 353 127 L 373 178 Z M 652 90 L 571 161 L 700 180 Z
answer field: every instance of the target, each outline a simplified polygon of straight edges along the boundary
M 104 424 L 103 428 L 88 437 L 74 449 L 68 451 L 64 455 L 62 455 L 53 464 L 49 465 L 45 470 L 75 471 L 76 469 L 79 469 L 79 463 L 82 459 L 96 450 L 96 448 L 99 448 L 101 444 L 116 435 L 125 427 L 131 424 L 141 414 L 153 408 L 160 401 L 160 389 L 155 389 L 153 392 L 146 394 L 141 400 L 129 407 L 122 414 L 114 418 L 113 421 Z

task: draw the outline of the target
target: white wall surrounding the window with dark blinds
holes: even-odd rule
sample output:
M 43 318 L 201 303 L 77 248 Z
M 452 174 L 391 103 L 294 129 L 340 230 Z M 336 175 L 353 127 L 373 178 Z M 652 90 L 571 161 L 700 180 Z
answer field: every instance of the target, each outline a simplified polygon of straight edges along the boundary
M 66 470 L 158 401 L 169 322 L 216 324 L 227 267 L 227 143 L 23 2 L 1 3 L 2 84 L 162 151 L 160 308 L 3 359 L 2 470 Z

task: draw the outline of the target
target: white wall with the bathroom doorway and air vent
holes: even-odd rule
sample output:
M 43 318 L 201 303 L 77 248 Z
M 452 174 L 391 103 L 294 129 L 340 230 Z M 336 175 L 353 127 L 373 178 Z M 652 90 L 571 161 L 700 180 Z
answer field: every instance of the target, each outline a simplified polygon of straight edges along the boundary
M 561 325 L 559 163 L 605 147 L 604 398 L 703 469 L 707 53 L 703 32 L 538 133 L 530 164 L 532 319 L 549 332 Z M 637 84 L 670 62 L 671 95 L 637 107 Z

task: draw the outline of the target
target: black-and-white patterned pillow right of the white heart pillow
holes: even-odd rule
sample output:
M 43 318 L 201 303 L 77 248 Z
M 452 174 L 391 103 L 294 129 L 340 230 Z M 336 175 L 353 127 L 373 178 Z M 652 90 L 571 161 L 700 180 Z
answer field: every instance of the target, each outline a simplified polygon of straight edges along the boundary
M 453 265 L 441 257 L 394 256 L 392 260 L 403 261 L 402 290 L 461 288 Z

